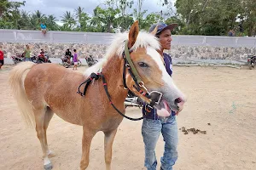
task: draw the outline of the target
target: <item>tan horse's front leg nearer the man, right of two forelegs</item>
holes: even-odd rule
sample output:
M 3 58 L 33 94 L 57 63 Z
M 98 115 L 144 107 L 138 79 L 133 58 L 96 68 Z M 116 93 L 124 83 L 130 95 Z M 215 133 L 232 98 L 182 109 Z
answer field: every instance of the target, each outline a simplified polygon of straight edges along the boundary
M 112 145 L 113 145 L 113 139 L 115 137 L 116 132 L 117 132 L 117 129 L 110 132 L 104 132 L 105 133 L 104 148 L 105 148 L 106 170 L 111 169 Z

